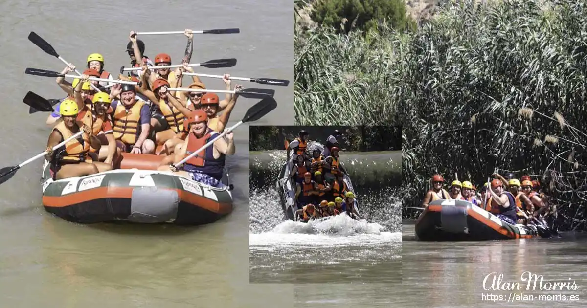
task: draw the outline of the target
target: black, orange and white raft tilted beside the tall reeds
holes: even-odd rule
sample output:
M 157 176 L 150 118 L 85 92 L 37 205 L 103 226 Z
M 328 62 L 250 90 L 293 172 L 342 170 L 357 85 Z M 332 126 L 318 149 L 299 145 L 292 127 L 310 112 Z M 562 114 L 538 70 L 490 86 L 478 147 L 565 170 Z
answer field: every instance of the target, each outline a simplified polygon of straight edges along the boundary
M 464 200 L 436 200 L 420 214 L 415 226 L 421 241 L 483 241 L 538 236 L 533 225 L 511 225 Z

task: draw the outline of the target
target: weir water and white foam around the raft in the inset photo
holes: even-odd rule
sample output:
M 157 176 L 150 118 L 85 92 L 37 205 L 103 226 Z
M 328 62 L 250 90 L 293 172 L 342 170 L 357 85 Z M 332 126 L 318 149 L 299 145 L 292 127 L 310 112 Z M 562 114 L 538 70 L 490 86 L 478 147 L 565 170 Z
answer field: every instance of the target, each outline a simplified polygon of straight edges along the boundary
M 340 154 L 367 221 L 340 215 L 304 224 L 285 220 L 279 195 L 271 185 L 277 180 L 285 151 L 251 152 L 251 282 L 401 280 L 401 200 L 394 185 L 383 181 L 382 175 L 374 176 L 383 171 L 387 179 L 401 181 L 401 155 L 401 151 Z

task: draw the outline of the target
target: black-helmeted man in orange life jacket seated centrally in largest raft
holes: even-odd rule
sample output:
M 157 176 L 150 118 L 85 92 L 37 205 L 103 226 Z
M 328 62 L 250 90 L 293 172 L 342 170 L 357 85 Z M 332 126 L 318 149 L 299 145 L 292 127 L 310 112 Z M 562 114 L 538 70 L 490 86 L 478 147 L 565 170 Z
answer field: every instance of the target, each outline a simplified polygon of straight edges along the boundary
M 110 90 L 110 96 L 120 96 L 120 100 L 114 100 L 110 104 L 114 111 L 114 138 L 120 150 L 134 154 L 153 154 L 155 144 L 149 139 L 149 106 L 143 101 L 137 101 L 136 90 L 131 84 L 115 84 Z

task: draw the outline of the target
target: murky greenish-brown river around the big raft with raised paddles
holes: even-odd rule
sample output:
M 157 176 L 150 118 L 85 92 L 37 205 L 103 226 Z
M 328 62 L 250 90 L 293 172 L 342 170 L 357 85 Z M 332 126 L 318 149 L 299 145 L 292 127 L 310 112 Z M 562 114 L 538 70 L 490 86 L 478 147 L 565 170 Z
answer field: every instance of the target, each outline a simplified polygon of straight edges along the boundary
M 66 60 L 85 69 L 99 52 L 106 70 L 129 66 L 125 49 L 134 31 L 240 28 L 234 35 L 194 35 L 191 63 L 235 57 L 227 69 L 196 72 L 292 80 L 293 12 L 279 1 L 2 1 L 0 55 L 5 75 L 0 167 L 16 165 L 45 150 L 48 114 L 28 114 L 26 92 L 61 98 L 54 78 L 25 75 L 26 67 L 60 71 L 65 65 L 27 36 L 38 33 Z M 146 55 L 183 57 L 183 35 L 143 36 Z M 71 81 L 71 79 L 68 79 Z M 205 79 L 224 89 L 220 79 Z M 233 81 L 236 83 L 236 81 Z M 255 124 L 293 124 L 292 86 L 242 82 L 275 89 L 278 109 Z M 186 83 L 187 85 L 187 83 Z M 232 125 L 256 100 L 239 99 Z M 26 165 L 0 187 L 1 307 L 287 307 L 291 286 L 249 284 L 248 127 L 235 131 L 237 154 L 227 166 L 235 184 L 235 210 L 215 224 L 196 228 L 70 224 L 41 207 L 41 161 Z

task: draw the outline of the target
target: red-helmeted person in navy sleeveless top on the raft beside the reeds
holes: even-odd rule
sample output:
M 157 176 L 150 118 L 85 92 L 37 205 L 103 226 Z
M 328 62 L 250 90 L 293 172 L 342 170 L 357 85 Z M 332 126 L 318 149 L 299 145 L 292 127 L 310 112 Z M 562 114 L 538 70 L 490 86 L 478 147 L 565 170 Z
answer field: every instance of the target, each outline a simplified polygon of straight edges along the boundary
M 497 178 L 491 180 L 490 186 L 486 210 L 502 221 L 515 225 L 517 214 L 514 195 L 509 191 L 505 191 L 504 185 Z

